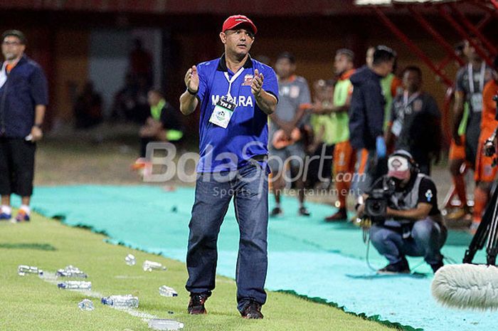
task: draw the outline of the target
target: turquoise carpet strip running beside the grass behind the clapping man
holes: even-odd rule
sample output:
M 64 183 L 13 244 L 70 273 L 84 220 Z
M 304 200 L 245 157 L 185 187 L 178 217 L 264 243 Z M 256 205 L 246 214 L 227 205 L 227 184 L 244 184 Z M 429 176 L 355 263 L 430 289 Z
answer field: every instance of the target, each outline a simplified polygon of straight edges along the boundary
M 58 216 L 70 226 L 88 226 L 105 232 L 110 241 L 185 261 L 188 223 L 194 189 L 164 191 L 150 186 L 39 187 L 33 208 Z M 271 208 L 270 196 L 270 208 Z M 292 290 L 299 295 L 337 303 L 344 310 L 376 316 L 379 320 L 423 330 L 498 330 L 489 312 L 441 308 L 430 296 L 427 275 L 375 275 L 365 263 L 361 231 L 349 224 L 325 224 L 329 206 L 309 204 L 312 216 L 297 216 L 297 201 L 285 197 L 285 216 L 270 219 L 267 288 Z M 443 254 L 461 261 L 470 236 L 450 233 Z M 233 206 L 228 210 L 218 240 L 218 273 L 233 278 L 238 228 Z M 482 254 L 478 256 L 482 259 Z M 413 268 L 420 258 L 409 259 Z M 370 262 L 378 268 L 386 261 L 371 249 Z M 216 294 L 216 293 L 215 293 Z

